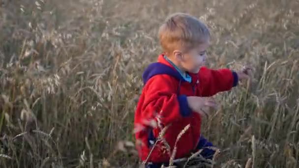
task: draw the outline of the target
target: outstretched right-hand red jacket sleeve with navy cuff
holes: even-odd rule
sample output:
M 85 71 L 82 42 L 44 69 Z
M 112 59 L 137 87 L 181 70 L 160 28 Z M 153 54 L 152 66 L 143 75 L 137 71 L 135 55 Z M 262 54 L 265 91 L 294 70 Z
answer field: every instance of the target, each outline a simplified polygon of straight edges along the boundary
M 211 70 L 206 67 L 199 71 L 199 95 L 212 96 L 228 91 L 238 85 L 238 75 L 229 69 Z

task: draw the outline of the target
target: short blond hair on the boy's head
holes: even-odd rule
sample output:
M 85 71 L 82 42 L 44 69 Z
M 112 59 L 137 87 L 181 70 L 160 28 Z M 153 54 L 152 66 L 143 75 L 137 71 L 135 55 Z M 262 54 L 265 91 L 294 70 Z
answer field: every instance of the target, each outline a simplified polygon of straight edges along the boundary
M 167 17 L 158 34 L 161 47 L 166 53 L 174 50 L 187 51 L 205 43 L 210 37 L 209 29 L 204 23 L 185 13 Z

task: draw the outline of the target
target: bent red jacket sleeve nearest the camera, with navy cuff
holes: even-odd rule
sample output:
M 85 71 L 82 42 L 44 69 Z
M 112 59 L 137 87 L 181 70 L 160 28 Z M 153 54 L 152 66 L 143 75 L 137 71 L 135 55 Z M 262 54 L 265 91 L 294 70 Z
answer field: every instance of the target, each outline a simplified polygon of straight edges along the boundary
M 157 75 L 146 84 L 142 107 L 143 119 L 159 117 L 163 125 L 191 114 L 186 95 L 177 95 L 177 88 L 168 76 Z

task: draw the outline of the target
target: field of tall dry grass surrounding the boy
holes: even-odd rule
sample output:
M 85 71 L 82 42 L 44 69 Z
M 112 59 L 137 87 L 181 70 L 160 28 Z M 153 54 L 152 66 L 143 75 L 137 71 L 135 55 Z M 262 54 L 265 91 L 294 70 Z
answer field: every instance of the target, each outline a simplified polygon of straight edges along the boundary
M 0 167 L 138 167 L 141 74 L 173 12 L 208 24 L 209 67 L 255 68 L 205 119 L 217 166 L 298 168 L 298 0 L 0 0 Z

